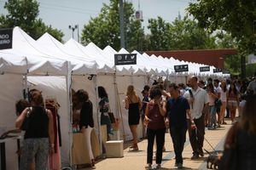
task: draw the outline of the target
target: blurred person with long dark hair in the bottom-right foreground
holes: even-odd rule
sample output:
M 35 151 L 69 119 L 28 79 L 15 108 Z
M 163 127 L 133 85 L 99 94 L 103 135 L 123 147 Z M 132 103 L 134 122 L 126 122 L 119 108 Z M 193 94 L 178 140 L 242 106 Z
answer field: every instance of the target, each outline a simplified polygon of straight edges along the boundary
M 246 97 L 241 118 L 230 128 L 224 143 L 220 170 L 256 167 L 256 94 Z

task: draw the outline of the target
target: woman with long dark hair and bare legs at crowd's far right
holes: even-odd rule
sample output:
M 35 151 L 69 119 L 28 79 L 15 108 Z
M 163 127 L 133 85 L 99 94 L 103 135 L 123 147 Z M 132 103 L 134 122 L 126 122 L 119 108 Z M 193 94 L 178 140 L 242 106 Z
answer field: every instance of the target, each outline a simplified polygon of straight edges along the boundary
M 230 83 L 230 89 L 227 94 L 227 103 L 230 109 L 231 121 L 234 123 L 236 117 L 236 108 L 239 105 L 239 92 L 236 90 L 235 82 Z

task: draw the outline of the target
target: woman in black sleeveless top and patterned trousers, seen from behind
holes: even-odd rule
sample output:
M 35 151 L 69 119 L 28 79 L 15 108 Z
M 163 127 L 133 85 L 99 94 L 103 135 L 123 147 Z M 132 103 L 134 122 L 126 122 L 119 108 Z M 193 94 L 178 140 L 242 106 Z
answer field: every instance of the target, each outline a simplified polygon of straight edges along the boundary
M 16 120 L 16 127 L 26 131 L 21 149 L 20 169 L 29 169 L 35 160 L 35 169 L 45 170 L 48 167 L 49 153 L 54 153 L 53 117 L 51 111 L 44 108 L 42 92 L 32 89 L 29 100 L 32 107 L 22 111 Z

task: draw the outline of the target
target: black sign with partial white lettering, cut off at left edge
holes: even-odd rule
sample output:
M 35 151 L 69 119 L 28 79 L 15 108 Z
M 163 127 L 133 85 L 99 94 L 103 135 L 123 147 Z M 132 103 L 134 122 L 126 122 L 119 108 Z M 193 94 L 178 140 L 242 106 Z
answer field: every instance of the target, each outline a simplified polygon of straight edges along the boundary
M 0 49 L 8 49 L 13 46 L 13 29 L 0 29 Z

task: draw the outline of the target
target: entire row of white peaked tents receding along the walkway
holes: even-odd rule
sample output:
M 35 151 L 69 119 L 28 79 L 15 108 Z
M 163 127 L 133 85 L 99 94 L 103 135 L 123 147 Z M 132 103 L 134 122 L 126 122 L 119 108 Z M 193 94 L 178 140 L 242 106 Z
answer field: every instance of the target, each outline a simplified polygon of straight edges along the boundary
M 0 127 L 15 126 L 15 102 L 23 98 L 30 88 L 43 91 L 44 98 L 55 98 L 61 105 L 61 162 L 72 165 L 72 111 L 71 89 L 86 90 L 94 105 L 94 120 L 97 132 L 100 134 L 100 114 L 97 112 L 97 87 L 107 89 L 110 107 L 115 116 L 122 117 L 120 129 L 125 139 L 131 139 L 128 126 L 127 111 L 122 100 L 128 85 L 133 84 L 137 94 L 146 84 L 158 77 L 166 77 L 171 82 L 186 82 L 189 75 L 201 78 L 227 77 L 222 73 L 210 71 L 200 72 L 199 67 L 207 66 L 161 56 L 137 54 L 137 65 L 114 65 L 114 54 L 129 54 L 124 48 L 119 52 L 110 46 L 103 50 L 90 42 L 87 46 L 70 39 L 65 44 L 45 33 L 37 41 L 29 37 L 19 27 L 13 30 L 13 45 L 11 49 L 0 50 Z M 189 65 L 189 71 L 176 73 L 174 65 Z M 90 78 L 91 77 L 91 78 Z M 14 142 L 7 144 L 7 169 L 15 169 Z

